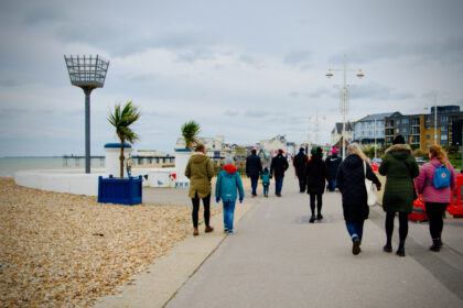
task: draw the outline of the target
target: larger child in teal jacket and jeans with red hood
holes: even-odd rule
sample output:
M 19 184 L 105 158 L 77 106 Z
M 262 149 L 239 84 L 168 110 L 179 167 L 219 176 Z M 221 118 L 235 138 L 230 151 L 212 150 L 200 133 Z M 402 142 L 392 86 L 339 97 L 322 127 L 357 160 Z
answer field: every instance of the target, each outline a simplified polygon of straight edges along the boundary
M 233 157 L 225 158 L 225 166 L 218 174 L 217 183 L 215 186 L 215 200 L 224 202 L 224 232 L 233 234 L 233 219 L 235 215 L 235 204 L 239 193 L 239 202 L 245 198 L 243 190 L 241 177 L 237 173 L 234 165 Z

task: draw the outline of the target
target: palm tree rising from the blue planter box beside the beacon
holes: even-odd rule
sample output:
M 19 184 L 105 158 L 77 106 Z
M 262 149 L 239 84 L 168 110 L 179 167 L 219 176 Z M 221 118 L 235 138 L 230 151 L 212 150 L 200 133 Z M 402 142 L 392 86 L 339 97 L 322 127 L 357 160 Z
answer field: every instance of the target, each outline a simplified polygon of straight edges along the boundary
M 132 105 L 131 101 L 128 101 L 120 111 L 120 103 L 115 106 L 115 112 L 108 114 L 108 121 L 116 129 L 116 134 L 120 139 L 120 178 L 123 177 L 123 143 L 126 141 L 133 143 L 136 140 L 139 140 L 139 135 L 136 134 L 130 125 L 133 124 L 141 116 L 137 107 Z

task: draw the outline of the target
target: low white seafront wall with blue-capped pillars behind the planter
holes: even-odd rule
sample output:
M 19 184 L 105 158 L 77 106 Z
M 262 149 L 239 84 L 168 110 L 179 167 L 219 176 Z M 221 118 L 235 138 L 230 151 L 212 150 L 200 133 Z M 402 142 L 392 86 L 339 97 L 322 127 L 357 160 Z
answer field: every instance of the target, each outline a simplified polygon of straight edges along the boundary
M 123 156 L 130 157 L 132 147 L 125 144 Z M 190 180 L 184 176 L 191 150 L 175 150 L 175 167 L 173 168 L 133 168 L 132 177 L 141 176 L 146 187 L 189 187 Z M 21 170 L 14 174 L 14 182 L 24 187 L 47 191 L 68 193 L 75 195 L 98 196 L 99 177 L 119 176 L 120 143 L 105 144 L 105 168 L 94 168 L 86 174 L 83 169 L 45 169 Z M 125 162 L 126 166 L 127 161 Z M 123 168 L 127 177 L 127 168 Z

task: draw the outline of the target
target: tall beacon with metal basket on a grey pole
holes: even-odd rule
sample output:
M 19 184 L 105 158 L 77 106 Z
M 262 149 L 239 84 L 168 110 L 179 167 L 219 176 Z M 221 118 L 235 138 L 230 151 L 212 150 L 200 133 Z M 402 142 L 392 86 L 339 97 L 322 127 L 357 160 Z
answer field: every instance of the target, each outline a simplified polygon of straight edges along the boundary
M 85 94 L 85 173 L 90 173 L 90 94 L 105 85 L 109 62 L 100 56 L 64 56 L 71 84 Z

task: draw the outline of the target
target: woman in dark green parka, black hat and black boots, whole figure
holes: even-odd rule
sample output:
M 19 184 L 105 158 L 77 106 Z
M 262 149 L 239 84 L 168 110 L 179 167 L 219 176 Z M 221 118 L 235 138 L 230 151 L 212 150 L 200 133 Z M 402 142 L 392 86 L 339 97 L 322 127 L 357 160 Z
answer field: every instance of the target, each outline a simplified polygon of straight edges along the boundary
M 392 146 L 386 150 L 386 156 L 379 166 L 379 174 L 386 176 L 386 188 L 383 197 L 383 209 L 386 212 L 385 252 L 392 252 L 394 219 L 399 213 L 399 248 L 396 254 L 405 256 L 405 242 L 408 234 L 408 215 L 417 198 L 413 178 L 419 174 L 419 167 L 411 154 L 411 147 L 405 144 L 402 135 L 397 135 Z

